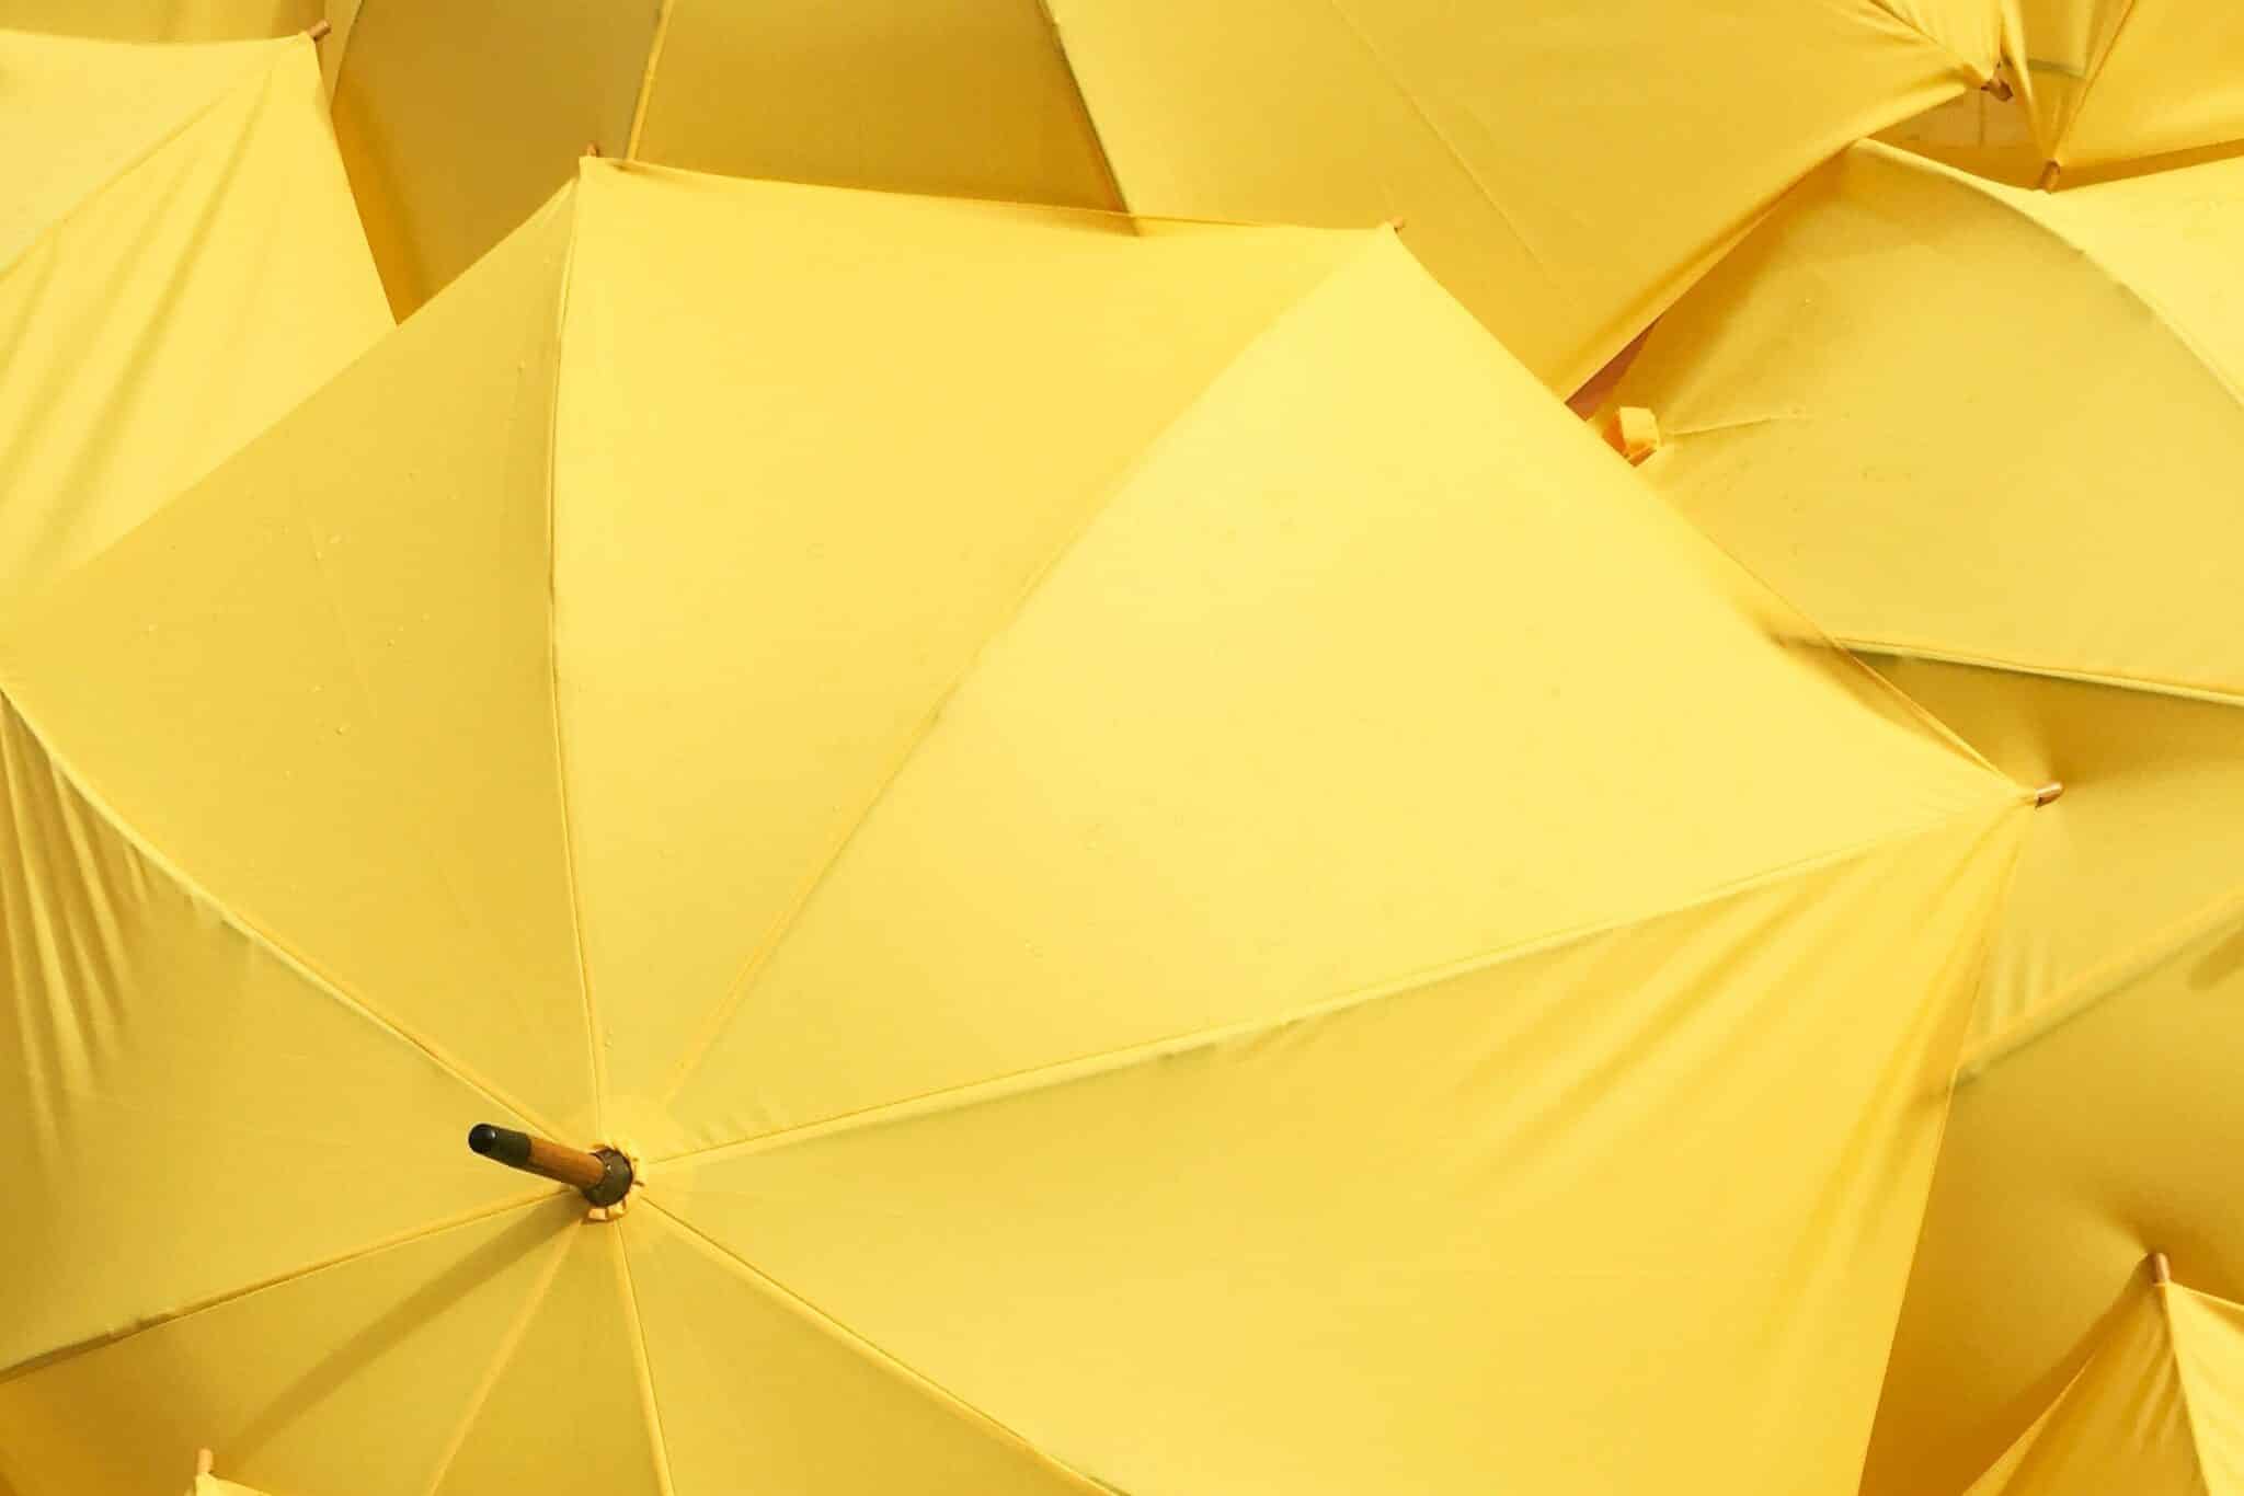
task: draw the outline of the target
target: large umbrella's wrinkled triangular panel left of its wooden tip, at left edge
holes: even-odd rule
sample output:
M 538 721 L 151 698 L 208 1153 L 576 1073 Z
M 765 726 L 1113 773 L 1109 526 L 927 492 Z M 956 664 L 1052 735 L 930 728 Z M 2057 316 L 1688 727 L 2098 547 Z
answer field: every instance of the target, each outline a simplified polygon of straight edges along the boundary
M 7 1263 L 36 1285 L 0 1375 L 525 1193 L 402 1144 L 505 1108 L 184 890 L 4 702 L 0 781 Z

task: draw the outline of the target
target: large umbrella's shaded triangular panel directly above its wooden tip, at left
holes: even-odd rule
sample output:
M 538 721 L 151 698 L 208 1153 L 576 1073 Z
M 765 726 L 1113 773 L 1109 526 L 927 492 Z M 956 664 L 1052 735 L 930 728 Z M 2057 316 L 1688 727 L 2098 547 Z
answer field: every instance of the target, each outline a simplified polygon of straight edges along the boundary
M 565 231 L 559 206 L 525 227 L 20 612 L 0 695 L 229 917 L 579 1135 L 548 641 Z

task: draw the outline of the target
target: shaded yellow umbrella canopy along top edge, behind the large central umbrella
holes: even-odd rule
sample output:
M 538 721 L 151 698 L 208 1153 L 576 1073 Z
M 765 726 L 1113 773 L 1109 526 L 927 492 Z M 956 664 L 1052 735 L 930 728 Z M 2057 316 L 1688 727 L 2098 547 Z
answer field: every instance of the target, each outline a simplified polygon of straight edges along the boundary
M 1369 227 L 1571 390 L 1786 184 L 1988 81 L 1986 0 L 366 0 L 337 126 L 399 312 L 588 141 L 756 177 Z

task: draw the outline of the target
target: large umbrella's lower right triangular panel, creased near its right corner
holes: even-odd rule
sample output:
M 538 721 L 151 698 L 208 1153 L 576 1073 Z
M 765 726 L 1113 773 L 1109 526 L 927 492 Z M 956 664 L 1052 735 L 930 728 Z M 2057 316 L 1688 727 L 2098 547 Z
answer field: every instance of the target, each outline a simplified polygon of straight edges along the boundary
M 2008 843 L 1896 841 L 649 1189 L 1113 1489 L 1842 1496 Z

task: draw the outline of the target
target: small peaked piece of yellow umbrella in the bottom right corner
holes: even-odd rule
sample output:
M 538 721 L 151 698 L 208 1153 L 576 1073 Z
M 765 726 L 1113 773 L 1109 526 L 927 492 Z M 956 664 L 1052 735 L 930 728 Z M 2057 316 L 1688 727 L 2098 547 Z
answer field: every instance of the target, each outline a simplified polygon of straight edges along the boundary
M 2156 1281 L 1968 1496 L 2244 1492 L 2244 1305 Z

